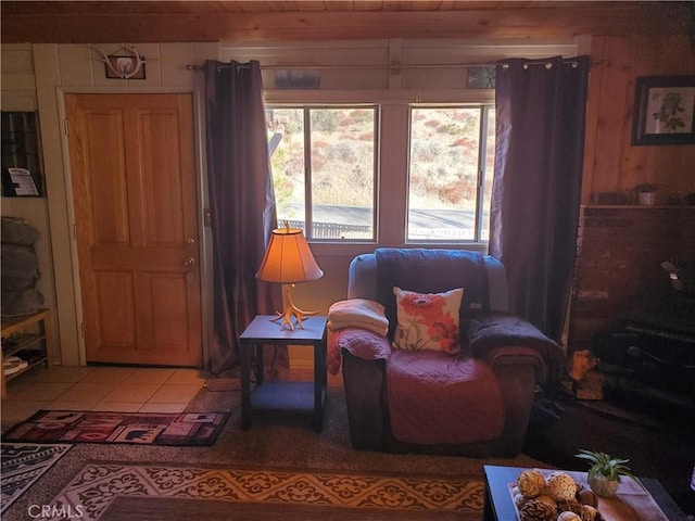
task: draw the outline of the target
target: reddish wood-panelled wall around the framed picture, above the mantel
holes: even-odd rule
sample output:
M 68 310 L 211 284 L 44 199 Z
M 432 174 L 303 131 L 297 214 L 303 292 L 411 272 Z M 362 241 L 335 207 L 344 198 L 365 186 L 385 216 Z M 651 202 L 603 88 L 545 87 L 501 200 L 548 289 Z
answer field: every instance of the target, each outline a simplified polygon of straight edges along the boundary
M 591 48 L 582 202 L 646 181 L 662 185 L 660 203 L 695 192 L 695 144 L 631 144 L 635 78 L 695 74 L 695 48 L 684 36 L 594 37 Z

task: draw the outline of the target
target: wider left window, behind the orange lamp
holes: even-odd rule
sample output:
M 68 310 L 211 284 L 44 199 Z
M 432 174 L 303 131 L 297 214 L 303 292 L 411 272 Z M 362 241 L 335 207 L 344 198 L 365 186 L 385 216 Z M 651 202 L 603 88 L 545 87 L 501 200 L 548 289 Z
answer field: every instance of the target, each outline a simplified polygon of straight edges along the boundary
M 308 240 L 375 240 L 374 105 L 267 107 L 278 223 Z

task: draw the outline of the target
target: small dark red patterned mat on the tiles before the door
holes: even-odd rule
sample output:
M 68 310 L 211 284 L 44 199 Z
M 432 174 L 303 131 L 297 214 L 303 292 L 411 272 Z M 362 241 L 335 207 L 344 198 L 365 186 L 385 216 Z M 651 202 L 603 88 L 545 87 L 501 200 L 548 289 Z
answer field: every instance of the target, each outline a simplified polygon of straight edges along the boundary
M 4 440 L 202 446 L 215 443 L 227 418 L 228 412 L 39 410 L 10 429 Z

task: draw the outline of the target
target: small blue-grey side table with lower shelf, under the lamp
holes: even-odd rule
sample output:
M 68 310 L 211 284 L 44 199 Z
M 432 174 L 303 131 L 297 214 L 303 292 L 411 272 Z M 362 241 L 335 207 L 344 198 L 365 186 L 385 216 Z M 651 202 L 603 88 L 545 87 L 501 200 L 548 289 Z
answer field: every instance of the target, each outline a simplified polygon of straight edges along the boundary
M 251 429 L 252 409 L 295 410 L 313 412 L 314 429 L 324 428 L 326 404 L 326 322 L 325 316 L 311 316 L 303 320 L 304 329 L 280 329 L 275 316 L 258 315 L 239 336 L 241 355 L 241 428 Z M 314 346 L 313 382 L 265 382 L 263 381 L 263 347 L 265 345 Z M 252 355 L 256 360 L 253 371 L 256 387 L 251 393 Z

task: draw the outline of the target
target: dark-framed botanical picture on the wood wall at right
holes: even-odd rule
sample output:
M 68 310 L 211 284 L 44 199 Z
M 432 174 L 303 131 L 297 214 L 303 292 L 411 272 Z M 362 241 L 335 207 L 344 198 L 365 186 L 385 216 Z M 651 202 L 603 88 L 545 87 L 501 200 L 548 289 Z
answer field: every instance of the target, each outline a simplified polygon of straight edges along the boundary
M 695 76 L 635 81 L 632 144 L 695 143 Z

